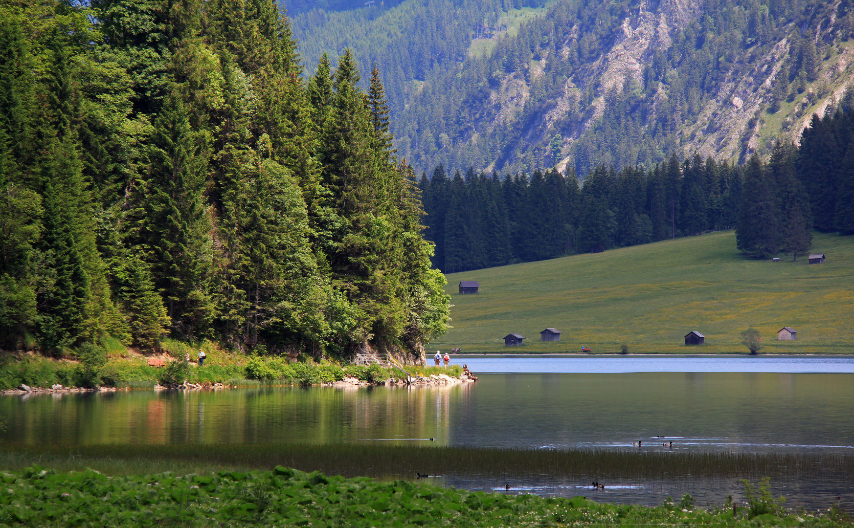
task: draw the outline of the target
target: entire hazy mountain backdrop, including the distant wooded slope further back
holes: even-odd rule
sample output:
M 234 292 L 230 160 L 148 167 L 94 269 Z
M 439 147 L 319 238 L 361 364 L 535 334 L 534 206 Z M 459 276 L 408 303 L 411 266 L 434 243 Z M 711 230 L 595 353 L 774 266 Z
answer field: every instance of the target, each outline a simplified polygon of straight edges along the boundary
M 698 135 L 718 131 L 729 92 L 750 77 L 755 86 L 746 90 L 769 93 L 755 112 L 744 108 L 751 115 L 732 131 L 740 136 L 732 160 L 745 163 L 753 152 L 767 160 L 772 136 L 802 115 L 801 99 L 810 106 L 828 96 L 822 61 L 854 35 L 849 0 L 559 0 L 518 31 L 500 31 L 506 10 L 542 5 L 409 1 L 384 12 L 303 14 L 295 31 L 315 61 L 345 46 L 377 61 L 395 147 L 417 171 L 565 165 L 578 174 L 690 155 Z M 483 38 L 494 38 L 491 51 L 468 54 Z M 780 53 L 778 65 L 771 59 Z M 777 123 L 768 116 L 781 105 L 787 115 Z M 766 117 L 777 128 L 759 142 Z

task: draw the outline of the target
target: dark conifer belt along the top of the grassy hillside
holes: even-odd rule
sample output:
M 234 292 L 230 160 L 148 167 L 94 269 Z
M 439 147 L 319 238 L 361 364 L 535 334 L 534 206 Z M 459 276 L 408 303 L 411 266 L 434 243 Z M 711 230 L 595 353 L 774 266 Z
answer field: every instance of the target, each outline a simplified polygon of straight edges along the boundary
M 671 155 L 650 170 L 598 165 L 582 186 L 553 169 L 448 177 L 439 165 L 418 183 L 433 264 L 453 273 L 733 228 L 746 254 L 797 258 L 814 227 L 854 233 L 852 104 L 849 90 L 836 113 L 813 118 L 800 148 L 778 143 L 768 162 Z

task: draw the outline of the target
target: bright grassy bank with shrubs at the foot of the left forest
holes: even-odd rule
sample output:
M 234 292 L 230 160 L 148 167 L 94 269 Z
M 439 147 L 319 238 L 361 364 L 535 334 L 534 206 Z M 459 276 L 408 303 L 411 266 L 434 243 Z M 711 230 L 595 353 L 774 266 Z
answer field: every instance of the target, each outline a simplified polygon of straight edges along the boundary
M 196 351 L 198 348 L 196 348 Z M 31 387 L 61 386 L 115 386 L 148 388 L 155 383 L 175 383 L 189 380 L 193 383 L 225 383 L 236 386 L 256 385 L 316 385 L 342 380 L 352 376 L 369 383 L 383 383 L 389 378 L 400 379 L 403 374 L 396 368 L 379 365 L 357 366 L 332 361 L 290 363 L 281 357 L 247 357 L 225 354 L 213 345 L 208 346 L 208 361 L 202 367 L 173 359 L 166 368 L 149 367 L 144 357 L 110 357 L 97 369 L 87 368 L 76 361 L 55 360 L 35 354 L 0 357 L 0 390 L 13 389 L 21 384 Z M 183 357 L 183 353 L 174 355 Z M 459 375 L 458 366 L 407 367 L 412 375 Z

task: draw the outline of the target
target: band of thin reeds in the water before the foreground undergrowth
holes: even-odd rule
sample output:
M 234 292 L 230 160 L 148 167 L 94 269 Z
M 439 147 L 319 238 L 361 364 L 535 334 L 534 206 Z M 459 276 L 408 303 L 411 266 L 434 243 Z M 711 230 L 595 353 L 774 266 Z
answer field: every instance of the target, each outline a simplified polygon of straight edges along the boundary
M 179 464 L 196 473 L 278 465 L 347 477 L 409 477 L 416 472 L 484 477 L 640 479 L 851 479 L 854 455 L 521 450 L 357 444 L 171 444 L 0 446 L 0 467 L 32 463 L 132 474 Z

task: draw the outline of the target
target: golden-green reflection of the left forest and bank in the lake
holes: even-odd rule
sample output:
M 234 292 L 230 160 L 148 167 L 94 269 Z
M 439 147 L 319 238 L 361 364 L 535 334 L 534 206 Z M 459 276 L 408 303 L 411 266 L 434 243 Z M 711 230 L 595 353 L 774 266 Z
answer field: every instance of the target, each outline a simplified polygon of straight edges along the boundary
M 427 441 L 447 444 L 471 385 L 274 387 L 0 397 L 4 442 L 173 444 Z M 425 440 L 426 439 L 426 440 Z

